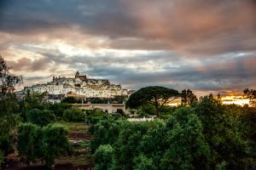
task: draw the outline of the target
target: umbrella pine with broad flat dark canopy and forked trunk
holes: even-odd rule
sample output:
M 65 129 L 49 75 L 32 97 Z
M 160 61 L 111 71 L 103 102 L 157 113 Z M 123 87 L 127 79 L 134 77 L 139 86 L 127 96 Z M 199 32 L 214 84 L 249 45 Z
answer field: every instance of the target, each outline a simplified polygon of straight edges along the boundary
M 156 109 L 156 115 L 160 117 L 160 112 L 163 106 L 178 97 L 179 93 L 175 89 L 149 86 L 141 88 L 136 93 L 131 94 L 127 101 L 127 105 L 130 108 L 136 108 L 143 104 L 152 104 Z

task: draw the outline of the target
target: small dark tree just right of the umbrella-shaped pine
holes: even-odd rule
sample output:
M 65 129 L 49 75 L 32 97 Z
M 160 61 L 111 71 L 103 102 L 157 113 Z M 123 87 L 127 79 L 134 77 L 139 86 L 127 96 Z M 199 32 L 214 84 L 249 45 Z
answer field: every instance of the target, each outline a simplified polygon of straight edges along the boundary
M 181 93 L 181 105 L 183 106 L 191 106 L 194 104 L 198 99 L 196 98 L 195 94 L 189 89 L 183 89 Z

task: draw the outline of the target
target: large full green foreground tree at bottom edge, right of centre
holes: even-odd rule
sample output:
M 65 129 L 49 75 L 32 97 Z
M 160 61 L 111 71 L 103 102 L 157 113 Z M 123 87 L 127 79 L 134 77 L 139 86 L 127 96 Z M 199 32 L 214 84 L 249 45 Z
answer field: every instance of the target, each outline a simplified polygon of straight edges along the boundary
M 169 149 L 161 159 L 163 169 L 208 169 L 210 147 L 203 135 L 201 120 L 195 111 L 180 108 L 173 113 L 167 125 Z

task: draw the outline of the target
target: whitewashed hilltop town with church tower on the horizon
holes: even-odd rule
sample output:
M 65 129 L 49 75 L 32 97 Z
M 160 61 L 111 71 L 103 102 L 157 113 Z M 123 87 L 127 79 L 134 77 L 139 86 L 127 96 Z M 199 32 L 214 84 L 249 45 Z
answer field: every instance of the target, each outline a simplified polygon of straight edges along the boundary
M 72 94 L 83 96 L 84 99 L 129 97 L 135 92 L 135 90 L 122 88 L 121 85 L 113 84 L 106 79 L 91 79 L 86 75 L 80 76 L 79 71 L 76 72 L 75 77 L 53 77 L 52 82 L 32 85 L 26 90 L 55 96 Z

